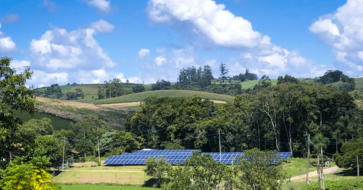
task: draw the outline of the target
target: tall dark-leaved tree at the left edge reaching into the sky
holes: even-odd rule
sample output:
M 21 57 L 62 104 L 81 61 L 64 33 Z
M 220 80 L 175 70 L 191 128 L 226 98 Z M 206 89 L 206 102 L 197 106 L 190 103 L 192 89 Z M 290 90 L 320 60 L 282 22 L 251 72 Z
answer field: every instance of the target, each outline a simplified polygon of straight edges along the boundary
M 13 115 L 12 110 L 20 110 L 34 114 L 38 103 L 32 89 L 25 87 L 26 80 L 30 80 L 33 74 L 29 67 L 16 74 L 16 70 L 10 68 L 11 58 L 0 59 L 0 169 L 5 169 L 14 157 L 21 156 L 24 152 L 14 146 L 20 143 L 16 131 L 23 121 Z M 11 109 L 5 107 L 9 105 Z

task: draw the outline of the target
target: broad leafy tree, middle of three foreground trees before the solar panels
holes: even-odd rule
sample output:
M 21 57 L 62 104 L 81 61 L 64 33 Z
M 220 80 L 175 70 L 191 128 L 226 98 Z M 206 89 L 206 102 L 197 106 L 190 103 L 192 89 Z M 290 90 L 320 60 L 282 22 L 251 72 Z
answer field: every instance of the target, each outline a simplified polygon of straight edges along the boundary
M 176 168 L 169 171 L 168 190 L 232 190 L 236 184 L 233 177 L 237 176 L 235 169 L 201 152 L 193 152 L 183 161 L 183 166 L 176 164 Z

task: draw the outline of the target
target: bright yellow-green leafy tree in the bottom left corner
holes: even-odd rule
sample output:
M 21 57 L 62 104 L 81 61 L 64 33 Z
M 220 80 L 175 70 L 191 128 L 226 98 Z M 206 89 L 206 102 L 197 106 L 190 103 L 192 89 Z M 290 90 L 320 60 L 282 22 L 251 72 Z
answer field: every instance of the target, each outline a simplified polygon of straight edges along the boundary
M 24 162 L 24 157 L 17 158 L 2 171 L 3 179 L 0 180 L 0 188 L 4 190 L 61 190 L 60 186 L 50 181 L 52 175 L 43 167 L 49 164 L 45 157 L 34 157 L 28 162 Z

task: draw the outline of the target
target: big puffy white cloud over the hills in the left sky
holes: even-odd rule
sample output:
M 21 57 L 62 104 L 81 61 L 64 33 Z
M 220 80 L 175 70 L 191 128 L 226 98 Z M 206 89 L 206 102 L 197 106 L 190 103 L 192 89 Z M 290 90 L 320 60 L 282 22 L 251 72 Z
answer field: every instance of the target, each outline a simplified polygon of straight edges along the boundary
M 102 50 L 94 35 L 110 32 L 113 27 L 104 20 L 73 31 L 53 27 L 40 38 L 32 39 L 28 62 L 15 62 L 14 65 L 29 66 L 31 63 L 34 76 L 30 85 L 103 83 L 116 76 L 107 69 L 114 68 L 117 63 Z

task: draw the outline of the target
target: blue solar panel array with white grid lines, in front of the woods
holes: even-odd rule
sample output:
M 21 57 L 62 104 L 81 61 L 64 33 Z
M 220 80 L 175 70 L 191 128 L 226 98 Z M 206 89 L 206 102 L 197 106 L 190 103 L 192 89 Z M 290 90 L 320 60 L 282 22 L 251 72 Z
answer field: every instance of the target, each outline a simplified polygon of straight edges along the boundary
M 123 153 L 120 156 L 110 156 L 103 164 L 114 165 L 144 165 L 148 158 L 157 158 L 159 156 L 164 157 L 170 164 L 178 162 L 182 164 L 184 160 L 187 160 L 192 156 L 192 152 L 200 152 L 200 150 L 139 150 L 135 153 Z M 232 164 L 232 159 L 236 159 L 243 156 L 243 152 L 219 152 L 203 153 L 203 155 L 209 154 L 216 161 L 221 160 L 224 164 Z M 281 159 L 287 159 L 291 152 L 278 152 Z M 278 162 L 280 159 L 274 159 L 271 162 Z

